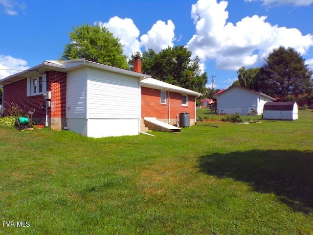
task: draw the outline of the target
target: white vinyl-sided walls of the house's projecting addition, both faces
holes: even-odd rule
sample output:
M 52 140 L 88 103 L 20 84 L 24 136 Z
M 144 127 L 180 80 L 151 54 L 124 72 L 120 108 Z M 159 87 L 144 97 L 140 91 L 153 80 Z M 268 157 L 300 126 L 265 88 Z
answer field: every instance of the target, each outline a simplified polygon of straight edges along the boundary
M 89 137 L 138 135 L 139 77 L 83 68 L 67 73 L 67 127 Z

